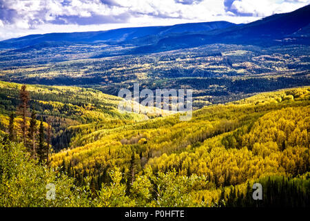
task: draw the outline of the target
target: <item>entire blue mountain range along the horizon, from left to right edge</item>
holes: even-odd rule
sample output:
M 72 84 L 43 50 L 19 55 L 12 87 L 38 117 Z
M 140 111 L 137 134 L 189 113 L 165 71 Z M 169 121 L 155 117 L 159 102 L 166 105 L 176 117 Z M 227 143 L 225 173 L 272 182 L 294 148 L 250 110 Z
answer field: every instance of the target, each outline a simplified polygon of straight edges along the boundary
M 124 54 L 162 52 L 206 44 L 243 44 L 273 46 L 310 44 L 310 5 L 289 13 L 271 15 L 247 24 L 227 21 L 184 23 L 174 26 L 119 28 L 98 32 L 50 33 L 28 35 L 0 41 L 0 48 L 29 50 L 70 44 L 130 45 Z M 105 57 L 106 55 L 99 55 Z

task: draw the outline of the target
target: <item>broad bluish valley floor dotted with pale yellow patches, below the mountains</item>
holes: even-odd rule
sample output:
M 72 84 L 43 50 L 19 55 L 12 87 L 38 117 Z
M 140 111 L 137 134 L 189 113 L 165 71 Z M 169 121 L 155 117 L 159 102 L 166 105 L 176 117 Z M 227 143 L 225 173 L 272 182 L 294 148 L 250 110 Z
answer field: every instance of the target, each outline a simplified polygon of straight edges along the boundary
M 97 47 L 86 48 L 98 53 Z M 51 48 L 51 52 L 45 50 L 49 49 L 41 52 L 43 59 L 38 57 L 40 50 L 14 52 L 14 55 L 2 52 L 0 79 L 26 84 L 82 86 L 116 96 L 121 88 L 132 90 L 134 83 L 151 90 L 189 88 L 193 90 L 194 108 L 310 84 L 309 46 L 261 48 L 212 44 L 149 55 L 96 59 L 90 58 L 95 52 L 79 52 L 76 46 L 65 47 L 66 59 L 70 61 L 57 61 L 56 55 L 63 54 L 61 47 Z M 72 50 L 72 54 L 68 50 Z M 23 56 L 28 57 L 25 64 Z M 4 60 L 6 57 L 9 61 Z M 47 59 L 47 64 L 39 64 L 37 59 L 40 62 Z M 16 61 L 18 66 L 12 63 Z M 8 66 L 10 68 L 6 68 Z

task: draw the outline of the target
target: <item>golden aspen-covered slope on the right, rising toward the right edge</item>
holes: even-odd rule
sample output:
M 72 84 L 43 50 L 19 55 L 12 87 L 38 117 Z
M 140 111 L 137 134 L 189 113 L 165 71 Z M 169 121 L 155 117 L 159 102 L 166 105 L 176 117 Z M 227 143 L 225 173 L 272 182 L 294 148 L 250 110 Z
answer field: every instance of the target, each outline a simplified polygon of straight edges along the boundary
M 269 174 L 309 171 L 310 88 L 262 93 L 178 115 L 103 128 L 72 140 L 70 150 L 52 156 L 52 165 L 70 175 L 91 175 L 100 185 L 107 171 L 124 172 L 135 153 L 136 171 L 176 169 L 207 175 L 210 186 L 242 184 Z M 85 128 L 87 130 L 87 128 Z

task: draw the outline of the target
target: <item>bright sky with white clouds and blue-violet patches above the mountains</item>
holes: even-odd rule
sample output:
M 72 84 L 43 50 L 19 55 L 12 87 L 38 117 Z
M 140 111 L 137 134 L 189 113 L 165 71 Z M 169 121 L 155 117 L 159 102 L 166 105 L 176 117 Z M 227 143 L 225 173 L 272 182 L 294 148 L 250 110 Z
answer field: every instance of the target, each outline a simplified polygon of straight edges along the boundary
M 176 23 L 249 23 L 310 0 L 0 0 L 0 40 Z

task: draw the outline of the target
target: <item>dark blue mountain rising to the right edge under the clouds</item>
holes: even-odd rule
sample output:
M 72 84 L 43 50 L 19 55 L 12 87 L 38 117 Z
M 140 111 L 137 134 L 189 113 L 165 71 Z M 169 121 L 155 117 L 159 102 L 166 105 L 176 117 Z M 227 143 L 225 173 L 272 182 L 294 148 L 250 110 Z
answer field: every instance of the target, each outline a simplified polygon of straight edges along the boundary
M 309 28 L 307 28 L 309 21 L 310 5 L 293 12 L 265 17 L 242 26 L 164 37 L 156 44 L 141 46 L 141 48 L 135 48 L 132 52 L 161 52 L 214 43 L 258 46 L 310 44 Z M 288 39 L 291 35 L 293 35 L 293 39 Z

